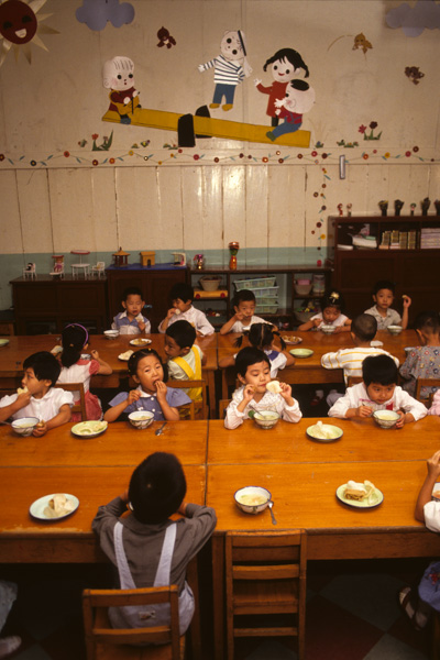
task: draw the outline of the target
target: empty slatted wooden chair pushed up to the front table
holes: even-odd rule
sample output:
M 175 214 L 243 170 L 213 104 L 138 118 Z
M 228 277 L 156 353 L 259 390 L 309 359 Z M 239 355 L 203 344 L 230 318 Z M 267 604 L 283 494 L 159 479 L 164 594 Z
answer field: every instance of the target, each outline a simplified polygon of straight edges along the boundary
M 304 530 L 227 534 L 228 660 L 233 660 L 237 637 L 274 636 L 297 637 L 304 660 L 306 569 Z M 277 614 L 288 615 L 288 625 L 270 625 L 267 616 Z

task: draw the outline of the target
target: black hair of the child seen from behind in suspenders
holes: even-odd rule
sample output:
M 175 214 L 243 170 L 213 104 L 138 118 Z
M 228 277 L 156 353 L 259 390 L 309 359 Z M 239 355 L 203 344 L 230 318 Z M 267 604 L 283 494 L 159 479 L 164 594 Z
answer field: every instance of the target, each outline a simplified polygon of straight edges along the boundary
M 130 504 L 134 517 L 145 525 L 164 522 L 177 512 L 185 495 L 185 473 L 172 453 L 151 454 L 131 475 Z

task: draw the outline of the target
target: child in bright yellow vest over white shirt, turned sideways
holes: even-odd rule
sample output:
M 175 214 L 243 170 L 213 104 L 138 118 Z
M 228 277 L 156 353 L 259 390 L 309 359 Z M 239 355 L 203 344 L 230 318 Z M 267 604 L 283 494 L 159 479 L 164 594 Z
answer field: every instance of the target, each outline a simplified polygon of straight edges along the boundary
M 168 374 L 176 381 L 200 381 L 206 355 L 195 344 L 196 330 L 188 321 L 176 321 L 165 332 L 165 353 Z M 183 389 L 194 402 L 201 402 L 201 388 Z

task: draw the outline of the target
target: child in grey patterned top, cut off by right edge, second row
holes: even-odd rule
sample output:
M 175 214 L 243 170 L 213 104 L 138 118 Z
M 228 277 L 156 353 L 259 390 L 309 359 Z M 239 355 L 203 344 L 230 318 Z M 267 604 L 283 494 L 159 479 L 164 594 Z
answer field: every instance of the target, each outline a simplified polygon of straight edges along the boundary
M 419 336 L 420 346 L 415 346 L 407 354 L 400 366 L 400 375 L 407 378 L 403 384 L 405 392 L 411 396 L 416 394 L 417 378 L 440 377 L 440 316 L 437 311 L 422 311 L 415 321 L 415 329 Z M 437 387 L 422 387 L 421 398 L 428 398 Z

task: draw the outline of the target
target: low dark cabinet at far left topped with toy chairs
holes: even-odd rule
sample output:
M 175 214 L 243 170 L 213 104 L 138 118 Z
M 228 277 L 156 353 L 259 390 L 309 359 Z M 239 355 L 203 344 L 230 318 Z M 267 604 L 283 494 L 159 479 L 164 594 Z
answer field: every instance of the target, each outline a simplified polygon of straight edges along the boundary
M 81 323 L 101 333 L 107 322 L 106 279 L 12 279 L 18 334 L 61 332 L 66 323 Z

